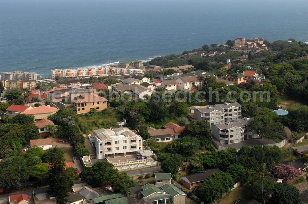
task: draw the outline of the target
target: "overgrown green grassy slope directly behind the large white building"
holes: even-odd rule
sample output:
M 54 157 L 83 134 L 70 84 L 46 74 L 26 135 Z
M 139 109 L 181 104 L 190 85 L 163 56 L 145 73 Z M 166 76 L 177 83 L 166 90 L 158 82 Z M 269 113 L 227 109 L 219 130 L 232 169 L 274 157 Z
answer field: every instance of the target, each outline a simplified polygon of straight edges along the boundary
M 116 123 L 122 120 L 120 114 L 114 109 L 107 109 L 106 112 L 95 113 L 90 116 L 79 116 L 78 126 L 84 134 L 92 134 L 93 130 L 100 128 L 116 128 Z

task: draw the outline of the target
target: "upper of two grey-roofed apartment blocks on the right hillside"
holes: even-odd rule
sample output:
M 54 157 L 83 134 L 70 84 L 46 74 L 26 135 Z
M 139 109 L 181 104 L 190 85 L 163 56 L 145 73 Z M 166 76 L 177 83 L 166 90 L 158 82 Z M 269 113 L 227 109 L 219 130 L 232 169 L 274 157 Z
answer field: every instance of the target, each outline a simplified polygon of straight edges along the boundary
M 192 110 L 193 107 L 191 107 Z M 193 109 L 195 120 L 206 120 L 210 125 L 224 124 L 227 121 L 241 119 L 241 105 L 237 102 L 216 104 Z

